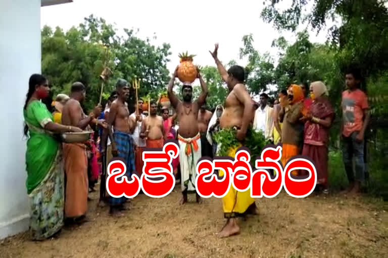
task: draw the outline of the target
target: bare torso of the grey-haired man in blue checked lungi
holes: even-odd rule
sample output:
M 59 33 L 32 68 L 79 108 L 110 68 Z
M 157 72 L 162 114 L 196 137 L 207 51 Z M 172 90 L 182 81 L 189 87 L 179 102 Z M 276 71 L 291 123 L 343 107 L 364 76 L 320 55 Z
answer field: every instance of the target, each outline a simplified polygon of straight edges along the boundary
M 113 128 L 115 131 L 131 134 L 134 130 L 135 122 L 129 117 L 128 104 L 116 99 L 112 102 L 109 112 L 113 119 Z M 111 119 L 111 117 L 110 117 Z

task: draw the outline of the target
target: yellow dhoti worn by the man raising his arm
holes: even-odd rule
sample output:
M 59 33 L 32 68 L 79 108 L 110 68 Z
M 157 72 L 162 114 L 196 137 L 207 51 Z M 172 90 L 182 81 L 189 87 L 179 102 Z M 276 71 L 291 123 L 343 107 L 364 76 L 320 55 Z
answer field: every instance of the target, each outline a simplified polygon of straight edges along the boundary
M 228 150 L 228 156 L 234 158 L 234 155 L 238 148 L 241 145 L 238 145 L 235 148 L 230 148 Z M 224 171 L 220 170 L 219 175 L 223 176 Z M 230 182 L 231 184 L 231 182 Z M 248 208 L 255 203 L 255 199 L 251 197 L 251 191 L 248 189 L 247 191 L 241 192 L 234 189 L 232 185 L 230 185 L 229 191 L 226 193 L 226 196 L 222 198 L 222 208 L 224 210 L 225 218 L 234 218 L 237 216 L 243 215 Z

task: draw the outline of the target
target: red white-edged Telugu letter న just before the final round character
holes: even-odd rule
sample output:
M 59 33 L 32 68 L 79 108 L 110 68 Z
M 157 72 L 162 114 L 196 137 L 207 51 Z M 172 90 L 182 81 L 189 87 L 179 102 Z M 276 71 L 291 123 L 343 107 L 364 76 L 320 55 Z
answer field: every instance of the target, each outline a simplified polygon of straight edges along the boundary
M 283 169 L 279 163 L 281 158 L 281 147 L 276 149 L 268 147 L 261 152 L 261 159 L 256 160 L 257 170 L 252 175 L 251 197 L 273 198 L 279 194 L 282 186 Z M 272 179 L 267 169 L 274 169 L 276 176 Z

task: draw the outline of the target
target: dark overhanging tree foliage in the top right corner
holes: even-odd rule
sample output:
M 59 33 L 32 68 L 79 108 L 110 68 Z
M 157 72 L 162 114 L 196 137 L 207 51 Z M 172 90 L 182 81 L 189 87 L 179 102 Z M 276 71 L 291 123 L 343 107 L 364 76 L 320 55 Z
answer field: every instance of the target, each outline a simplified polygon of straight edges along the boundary
M 303 22 L 320 31 L 327 19 L 341 19 L 341 25 L 328 28 L 330 46 L 344 71 L 349 66 L 362 69 L 364 76 L 378 76 L 388 70 L 388 10 L 384 0 L 293 0 L 289 8 L 278 10 L 282 0 L 267 0 L 264 21 L 277 29 L 295 31 Z M 308 4 L 313 4 L 307 12 Z

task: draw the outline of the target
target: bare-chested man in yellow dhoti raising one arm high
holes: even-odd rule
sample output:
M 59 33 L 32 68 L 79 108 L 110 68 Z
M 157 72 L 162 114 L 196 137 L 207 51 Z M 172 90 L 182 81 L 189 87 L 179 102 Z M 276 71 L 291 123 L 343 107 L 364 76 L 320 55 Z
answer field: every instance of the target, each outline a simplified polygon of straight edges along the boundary
M 237 148 L 230 148 L 228 150 L 228 156 L 234 158 L 236 150 L 243 146 L 248 126 L 253 120 L 255 107 L 244 85 L 244 68 L 232 66 L 226 71 L 218 59 L 217 52 L 218 44 L 216 44 L 214 51 L 210 51 L 210 53 L 216 61 L 222 80 L 226 82 L 229 89 L 229 95 L 225 100 L 224 112 L 220 117 L 220 127 L 221 130 L 222 128 L 234 128 L 236 130 L 236 138 L 240 145 Z M 223 176 L 223 174 L 224 171 L 220 170 L 220 176 Z M 256 213 L 255 200 L 251 197 L 249 189 L 245 192 L 237 192 L 231 186 L 227 195 L 222 198 L 222 204 L 224 217 L 227 219 L 227 222 L 219 234 L 220 237 L 238 234 L 240 229 L 236 218 L 246 213 Z

